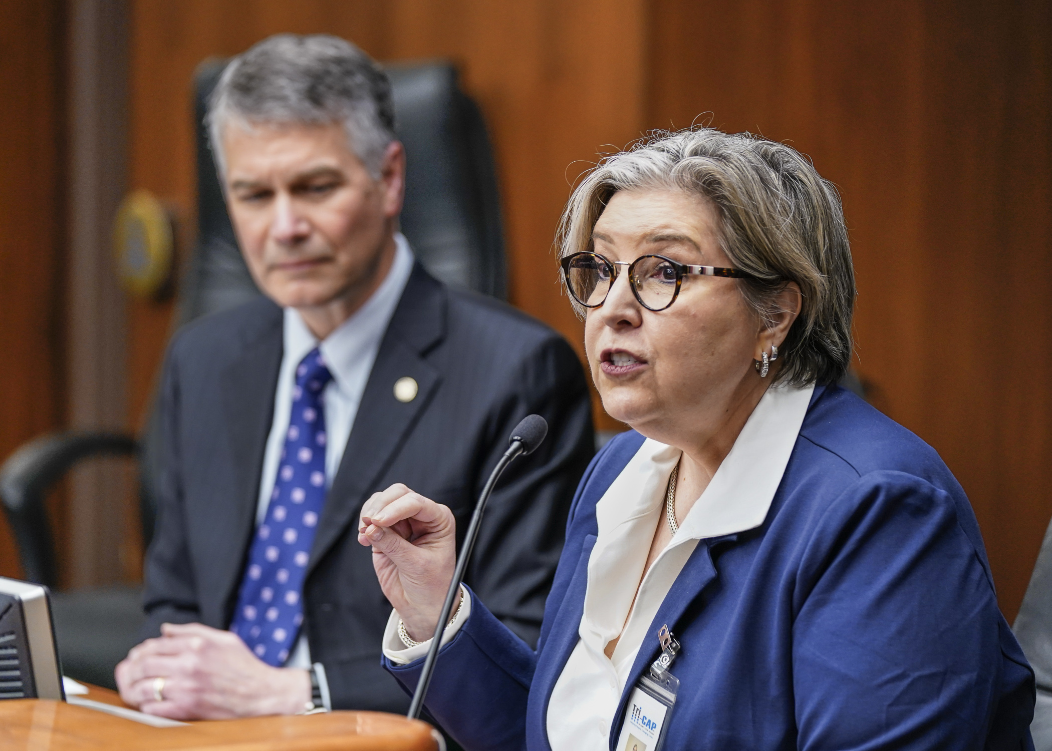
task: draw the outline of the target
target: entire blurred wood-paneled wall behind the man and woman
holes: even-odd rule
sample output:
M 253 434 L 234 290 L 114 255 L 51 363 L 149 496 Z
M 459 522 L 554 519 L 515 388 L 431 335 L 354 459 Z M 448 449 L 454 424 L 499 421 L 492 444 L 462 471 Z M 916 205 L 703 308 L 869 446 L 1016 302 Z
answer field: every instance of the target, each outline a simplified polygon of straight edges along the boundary
M 692 123 L 809 155 L 851 230 L 854 370 L 964 485 L 1014 618 L 1052 515 L 1048 0 L 0 0 L 0 461 L 145 429 L 196 240 L 195 70 L 278 32 L 456 64 L 492 142 L 507 297 L 579 350 L 552 237 L 598 155 Z M 114 261 L 136 189 L 174 227 L 148 295 Z M 141 576 L 136 487 L 107 460 L 49 495 L 60 588 Z M 0 575 L 22 574 L 0 516 Z

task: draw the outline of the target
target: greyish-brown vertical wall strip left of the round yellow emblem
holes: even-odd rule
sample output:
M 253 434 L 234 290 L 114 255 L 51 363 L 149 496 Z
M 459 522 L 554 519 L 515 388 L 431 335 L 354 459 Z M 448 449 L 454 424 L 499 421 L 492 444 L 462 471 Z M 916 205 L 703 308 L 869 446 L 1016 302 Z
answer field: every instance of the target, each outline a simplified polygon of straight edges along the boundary
M 125 189 L 127 27 L 124 0 L 69 6 L 68 427 L 122 431 L 126 415 L 124 296 L 113 262 L 113 219 Z M 60 550 L 72 587 L 141 576 L 134 462 L 85 462 L 70 476 L 77 530 Z

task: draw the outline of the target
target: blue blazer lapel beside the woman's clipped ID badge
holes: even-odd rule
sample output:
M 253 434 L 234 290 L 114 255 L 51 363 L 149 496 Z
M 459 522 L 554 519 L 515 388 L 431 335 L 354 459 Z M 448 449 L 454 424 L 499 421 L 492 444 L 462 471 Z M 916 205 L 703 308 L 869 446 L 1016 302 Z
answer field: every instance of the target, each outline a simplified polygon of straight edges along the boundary
M 690 604 L 705 590 L 707 586 L 716 577 L 715 566 L 712 565 L 712 554 L 710 552 L 714 545 L 728 543 L 737 540 L 736 534 L 729 534 L 712 540 L 701 540 L 694 552 L 687 559 L 686 565 L 675 577 L 671 589 L 658 608 L 658 614 L 650 624 L 650 630 L 643 640 L 639 654 L 635 655 L 635 663 L 632 664 L 632 671 L 625 683 L 625 690 L 621 694 L 621 704 L 618 706 L 618 713 L 613 716 L 613 725 L 610 727 L 610 748 L 618 743 L 618 729 L 625 716 L 625 706 L 628 696 L 635 688 L 635 683 L 640 679 L 644 670 L 649 669 L 650 664 L 656 659 L 658 630 L 662 626 L 668 625 L 672 634 L 675 635 L 676 624 L 683 613 L 690 607 Z M 672 673 L 675 674 L 675 663 L 672 663 Z

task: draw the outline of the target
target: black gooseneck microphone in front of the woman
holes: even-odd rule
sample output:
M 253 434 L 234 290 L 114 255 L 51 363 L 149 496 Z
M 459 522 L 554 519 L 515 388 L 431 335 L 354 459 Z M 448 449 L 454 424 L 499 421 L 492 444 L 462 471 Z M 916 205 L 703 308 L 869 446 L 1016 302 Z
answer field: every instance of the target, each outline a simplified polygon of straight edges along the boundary
M 508 450 L 501 456 L 501 461 L 493 467 L 493 471 L 486 481 L 486 486 L 479 495 L 479 501 L 474 505 L 474 513 L 471 514 L 471 523 L 467 527 L 467 534 L 464 535 L 464 544 L 461 546 L 460 555 L 457 556 L 457 568 L 453 570 L 453 581 L 449 583 L 449 590 L 446 592 L 446 602 L 442 606 L 439 614 L 439 623 L 434 626 L 434 635 L 431 637 L 431 646 L 427 650 L 427 657 L 424 659 L 424 669 L 420 673 L 420 681 L 417 682 L 417 690 L 412 693 L 412 702 L 409 704 L 409 712 L 406 716 L 409 719 L 420 717 L 420 710 L 424 707 L 424 696 L 427 695 L 427 687 L 431 683 L 431 675 L 434 673 L 434 663 L 439 656 L 439 649 L 442 646 L 442 633 L 449 623 L 449 614 L 453 609 L 453 602 L 457 600 L 457 592 L 460 590 L 461 582 L 467 572 L 467 562 L 471 557 L 471 548 L 479 536 L 479 529 L 482 527 L 482 514 L 486 510 L 486 502 L 489 494 L 493 492 L 493 486 L 503 474 L 504 470 L 517 456 L 525 456 L 532 453 L 548 434 L 548 423 L 540 414 L 529 414 L 511 431 L 508 439 Z

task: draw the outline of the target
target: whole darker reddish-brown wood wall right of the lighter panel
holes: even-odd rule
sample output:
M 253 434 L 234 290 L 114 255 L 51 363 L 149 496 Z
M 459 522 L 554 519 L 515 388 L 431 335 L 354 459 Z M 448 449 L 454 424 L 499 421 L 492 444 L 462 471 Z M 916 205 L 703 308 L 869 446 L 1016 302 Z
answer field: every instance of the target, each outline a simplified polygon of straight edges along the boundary
M 788 140 L 839 187 L 874 401 L 964 485 L 1011 618 L 1052 515 L 1050 6 L 655 0 L 648 123 Z

